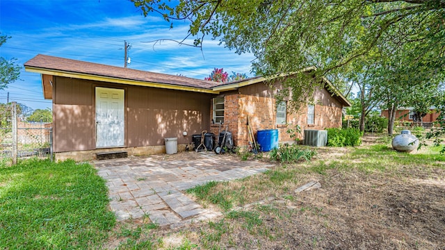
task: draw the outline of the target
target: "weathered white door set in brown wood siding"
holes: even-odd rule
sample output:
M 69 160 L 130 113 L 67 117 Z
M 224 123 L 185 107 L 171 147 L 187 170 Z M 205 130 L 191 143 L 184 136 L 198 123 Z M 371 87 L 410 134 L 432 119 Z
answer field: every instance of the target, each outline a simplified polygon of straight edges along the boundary
M 124 146 L 124 90 L 96 88 L 96 147 Z

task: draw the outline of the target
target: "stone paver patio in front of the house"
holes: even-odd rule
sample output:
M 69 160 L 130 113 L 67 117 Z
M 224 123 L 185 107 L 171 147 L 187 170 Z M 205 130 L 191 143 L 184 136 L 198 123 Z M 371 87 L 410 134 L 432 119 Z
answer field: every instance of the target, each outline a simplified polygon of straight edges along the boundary
M 111 210 L 119 221 L 147 215 L 152 222 L 171 227 L 220 215 L 180 191 L 208 181 L 258 174 L 273 166 L 209 152 L 100 160 L 94 164 L 99 176 L 107 181 Z

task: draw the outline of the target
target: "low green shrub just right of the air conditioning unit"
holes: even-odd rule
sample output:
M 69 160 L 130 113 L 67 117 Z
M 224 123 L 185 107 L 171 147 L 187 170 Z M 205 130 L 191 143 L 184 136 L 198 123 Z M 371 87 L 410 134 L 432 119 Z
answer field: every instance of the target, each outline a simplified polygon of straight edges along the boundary
M 327 146 L 355 147 L 362 144 L 363 133 L 357 128 L 327 128 Z

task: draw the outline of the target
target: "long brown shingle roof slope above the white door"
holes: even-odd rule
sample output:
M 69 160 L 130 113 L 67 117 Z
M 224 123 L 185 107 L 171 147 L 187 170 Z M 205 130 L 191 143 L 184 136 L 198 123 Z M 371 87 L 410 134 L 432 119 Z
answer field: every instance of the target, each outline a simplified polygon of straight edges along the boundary
M 218 83 L 204 81 L 186 76 L 173 76 L 154 72 L 146 72 L 137 69 L 102 65 L 99 63 L 88 63 L 79 60 L 59 58 L 56 56 L 46 56 L 38 54 L 28 62 L 25 67 L 36 67 L 40 69 L 57 70 L 61 72 L 71 72 L 77 74 L 90 74 L 95 76 L 106 76 L 132 81 L 143 81 L 150 83 L 164 83 L 192 88 L 211 89 Z

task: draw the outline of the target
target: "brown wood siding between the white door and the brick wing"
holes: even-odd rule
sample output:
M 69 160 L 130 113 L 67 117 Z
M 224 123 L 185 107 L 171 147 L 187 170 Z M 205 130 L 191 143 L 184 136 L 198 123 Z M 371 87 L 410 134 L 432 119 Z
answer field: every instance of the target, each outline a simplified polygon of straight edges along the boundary
M 131 87 L 128 89 L 128 146 L 163 145 L 164 138 L 191 142 L 210 128 L 210 94 Z M 182 135 L 183 132 L 188 135 Z

